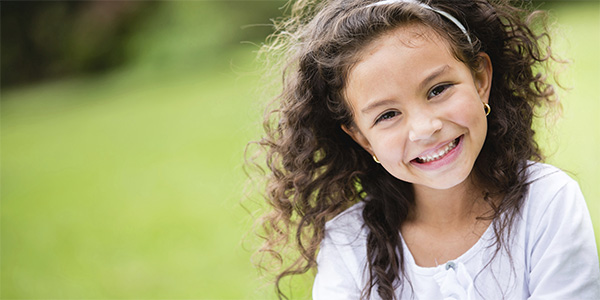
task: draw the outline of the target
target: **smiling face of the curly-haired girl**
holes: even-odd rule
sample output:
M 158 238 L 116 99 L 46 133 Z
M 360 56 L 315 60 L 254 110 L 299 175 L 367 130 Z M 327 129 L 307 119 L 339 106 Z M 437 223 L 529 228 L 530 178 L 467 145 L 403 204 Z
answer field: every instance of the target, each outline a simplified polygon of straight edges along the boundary
M 481 53 L 472 72 L 423 25 L 395 29 L 361 53 L 345 90 L 356 126 L 344 131 L 415 189 L 465 182 L 487 132 L 489 57 Z

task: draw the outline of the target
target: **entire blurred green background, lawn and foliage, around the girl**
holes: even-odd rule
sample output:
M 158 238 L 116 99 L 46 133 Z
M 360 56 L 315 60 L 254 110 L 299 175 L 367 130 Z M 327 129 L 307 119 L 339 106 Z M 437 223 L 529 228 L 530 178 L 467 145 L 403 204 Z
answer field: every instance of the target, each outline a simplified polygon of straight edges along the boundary
M 579 181 L 598 242 L 600 3 L 539 5 L 572 60 L 540 142 Z M 244 147 L 276 92 L 263 78 L 279 76 L 256 51 L 283 6 L 1 3 L 0 298 L 274 298 L 240 203 Z

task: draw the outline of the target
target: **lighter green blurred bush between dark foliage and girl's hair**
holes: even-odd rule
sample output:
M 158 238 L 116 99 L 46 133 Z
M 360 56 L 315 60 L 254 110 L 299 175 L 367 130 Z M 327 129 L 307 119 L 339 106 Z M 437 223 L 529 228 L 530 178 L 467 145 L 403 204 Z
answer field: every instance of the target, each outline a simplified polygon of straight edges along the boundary
M 243 42 L 260 43 L 284 1 L 166 1 L 138 24 L 128 61 L 162 68 L 223 67 Z M 248 51 L 244 49 L 243 51 Z

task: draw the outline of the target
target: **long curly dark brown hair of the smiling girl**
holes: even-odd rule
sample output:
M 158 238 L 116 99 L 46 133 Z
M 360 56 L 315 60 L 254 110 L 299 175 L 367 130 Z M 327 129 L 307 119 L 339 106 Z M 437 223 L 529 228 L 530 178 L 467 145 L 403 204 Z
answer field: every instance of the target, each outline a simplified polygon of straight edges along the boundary
M 532 121 L 538 107 L 555 103 L 547 80 L 552 57 L 541 12 L 510 5 L 507 0 L 423 1 L 457 18 L 472 39 L 439 14 L 405 2 L 368 7 L 375 1 L 304 0 L 290 4 L 290 15 L 276 22 L 276 33 L 264 51 L 284 58 L 283 90 L 265 116 L 265 135 L 258 144 L 266 158 L 264 198 L 270 209 L 259 220 L 264 239 L 259 266 L 274 272 L 275 289 L 286 276 L 316 266 L 325 223 L 351 205 L 364 201 L 368 228 L 367 286 L 383 299 L 405 281 L 404 253 L 398 234 L 414 205 L 410 183 L 376 164 L 341 126 L 353 126 L 344 88 L 361 50 L 394 28 L 419 23 L 450 45 L 456 59 L 477 70 L 477 54 L 485 52 L 494 68 L 488 132 L 473 175 L 491 213 L 496 253 L 508 235 L 527 192 L 529 161 L 542 155 Z M 541 20 L 541 33 L 533 30 Z M 537 24 L 537 23 L 536 23 Z M 500 197 L 501 201 L 492 201 Z M 502 217 L 501 217 L 502 216 Z M 273 265 L 275 260 L 278 262 Z M 275 266 L 275 267 L 274 267 Z M 274 267 L 275 270 L 270 268 Z

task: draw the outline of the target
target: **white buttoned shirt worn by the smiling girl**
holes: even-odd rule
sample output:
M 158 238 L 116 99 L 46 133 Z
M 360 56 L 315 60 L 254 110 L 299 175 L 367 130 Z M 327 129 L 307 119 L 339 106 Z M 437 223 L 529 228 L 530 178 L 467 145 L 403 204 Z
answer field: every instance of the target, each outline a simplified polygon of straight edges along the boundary
M 598 250 L 577 182 L 545 164 L 528 172 L 532 183 L 508 245 L 512 260 L 501 251 L 486 266 L 495 251 L 487 247 L 494 242 L 492 226 L 460 257 L 432 268 L 416 265 L 403 243 L 412 289 L 398 288 L 398 299 L 599 300 Z M 368 279 L 363 207 L 358 203 L 327 222 L 313 299 L 360 298 Z M 371 299 L 380 299 L 376 289 Z

